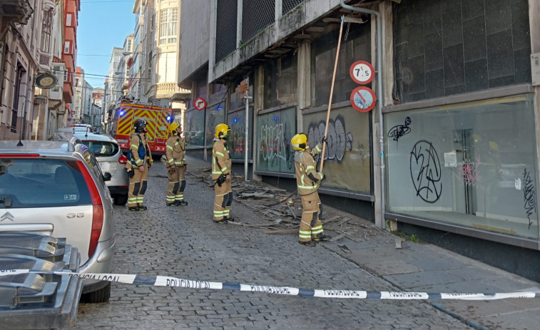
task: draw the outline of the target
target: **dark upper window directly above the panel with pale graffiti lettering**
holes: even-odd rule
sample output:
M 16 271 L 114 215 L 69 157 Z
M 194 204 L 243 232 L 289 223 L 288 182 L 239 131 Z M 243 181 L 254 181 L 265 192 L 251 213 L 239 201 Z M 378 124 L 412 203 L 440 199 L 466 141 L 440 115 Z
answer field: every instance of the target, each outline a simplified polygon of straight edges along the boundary
M 290 51 L 265 64 L 265 108 L 297 100 L 297 56 Z

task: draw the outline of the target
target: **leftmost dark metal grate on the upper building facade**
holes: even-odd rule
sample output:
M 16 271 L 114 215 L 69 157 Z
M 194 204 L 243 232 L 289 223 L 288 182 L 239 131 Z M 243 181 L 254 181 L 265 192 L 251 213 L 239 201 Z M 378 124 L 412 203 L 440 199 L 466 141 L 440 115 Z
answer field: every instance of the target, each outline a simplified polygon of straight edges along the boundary
M 215 63 L 236 49 L 237 0 L 218 0 L 215 22 Z

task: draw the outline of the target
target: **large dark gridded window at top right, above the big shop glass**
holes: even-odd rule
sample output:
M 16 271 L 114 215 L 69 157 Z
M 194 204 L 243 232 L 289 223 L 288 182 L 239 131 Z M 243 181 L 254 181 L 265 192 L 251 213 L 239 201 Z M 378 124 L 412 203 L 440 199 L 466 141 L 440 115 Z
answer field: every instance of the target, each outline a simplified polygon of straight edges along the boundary
M 395 102 L 531 82 L 527 0 L 404 0 L 393 19 Z

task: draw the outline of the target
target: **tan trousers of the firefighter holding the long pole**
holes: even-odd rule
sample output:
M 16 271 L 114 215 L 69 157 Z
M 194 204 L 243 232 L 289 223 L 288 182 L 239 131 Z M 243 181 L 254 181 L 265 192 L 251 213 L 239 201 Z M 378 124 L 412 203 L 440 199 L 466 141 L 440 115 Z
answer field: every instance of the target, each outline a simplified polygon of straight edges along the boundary
M 298 236 L 300 242 L 308 242 L 325 234 L 320 221 L 322 206 L 318 192 L 300 197 L 302 199 L 302 219 L 300 220 Z

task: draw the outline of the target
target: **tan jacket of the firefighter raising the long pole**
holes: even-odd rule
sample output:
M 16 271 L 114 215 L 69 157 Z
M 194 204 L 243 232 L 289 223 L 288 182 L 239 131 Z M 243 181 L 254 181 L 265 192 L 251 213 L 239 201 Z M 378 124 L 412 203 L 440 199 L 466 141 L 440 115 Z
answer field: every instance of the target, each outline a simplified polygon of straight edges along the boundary
M 300 196 L 310 195 L 319 189 L 323 175 L 321 172 L 317 172 L 315 168 L 317 163 L 313 156 L 318 155 L 321 151 L 322 145 L 319 143 L 312 150 L 307 148 L 295 152 L 296 185 Z

